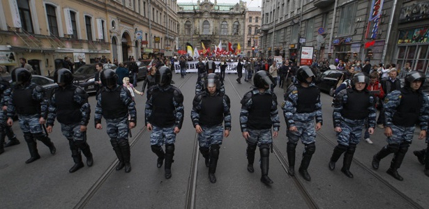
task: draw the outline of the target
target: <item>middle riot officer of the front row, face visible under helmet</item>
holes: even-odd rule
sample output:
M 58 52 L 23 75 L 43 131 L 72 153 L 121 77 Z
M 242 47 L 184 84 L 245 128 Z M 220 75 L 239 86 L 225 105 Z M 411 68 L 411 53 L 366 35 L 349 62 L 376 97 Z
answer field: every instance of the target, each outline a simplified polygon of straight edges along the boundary
M 190 112 L 195 130 L 200 141 L 200 153 L 209 167 L 209 180 L 216 183 L 216 166 L 218 164 L 220 145 L 223 137 L 229 136 L 231 130 L 231 113 L 229 97 L 220 91 L 218 75 L 210 73 L 204 80 L 204 91 L 195 95 L 193 109 Z M 225 129 L 222 123 L 225 121 Z

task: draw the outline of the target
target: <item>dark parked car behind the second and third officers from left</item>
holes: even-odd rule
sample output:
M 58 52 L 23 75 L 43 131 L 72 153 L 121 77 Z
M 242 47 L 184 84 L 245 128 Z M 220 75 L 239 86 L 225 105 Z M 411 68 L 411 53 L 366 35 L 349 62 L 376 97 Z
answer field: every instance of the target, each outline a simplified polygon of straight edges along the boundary
M 106 63 L 103 64 L 103 69 L 116 70 L 116 65 Z M 87 93 L 96 92 L 96 86 L 94 85 L 96 72 L 96 64 L 83 65 L 77 68 L 77 70 L 73 72 L 73 77 L 75 77 L 75 79 L 73 79 L 73 84 L 84 88 Z

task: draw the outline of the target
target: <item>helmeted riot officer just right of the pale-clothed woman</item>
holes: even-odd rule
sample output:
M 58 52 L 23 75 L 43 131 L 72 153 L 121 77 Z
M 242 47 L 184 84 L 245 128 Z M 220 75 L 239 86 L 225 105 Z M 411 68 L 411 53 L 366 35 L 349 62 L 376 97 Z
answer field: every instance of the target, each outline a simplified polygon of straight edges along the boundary
M 183 95 L 179 88 L 171 85 L 172 70 L 163 66 L 156 71 L 156 86 L 148 91 L 146 100 L 145 124 L 151 134 L 151 149 L 158 156 L 156 167 L 163 166 L 165 159 L 165 178 L 172 178 L 172 162 L 176 134 L 183 123 Z M 165 144 L 165 153 L 162 148 Z

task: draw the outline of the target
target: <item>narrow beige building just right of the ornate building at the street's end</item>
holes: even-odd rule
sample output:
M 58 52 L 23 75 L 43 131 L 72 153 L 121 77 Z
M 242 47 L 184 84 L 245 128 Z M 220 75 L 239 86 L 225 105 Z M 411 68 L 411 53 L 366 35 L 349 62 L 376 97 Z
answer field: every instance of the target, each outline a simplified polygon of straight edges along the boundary
M 247 8 L 244 28 L 246 33 L 244 40 L 244 54 L 248 57 L 256 57 L 259 50 L 259 30 L 261 29 L 261 8 Z

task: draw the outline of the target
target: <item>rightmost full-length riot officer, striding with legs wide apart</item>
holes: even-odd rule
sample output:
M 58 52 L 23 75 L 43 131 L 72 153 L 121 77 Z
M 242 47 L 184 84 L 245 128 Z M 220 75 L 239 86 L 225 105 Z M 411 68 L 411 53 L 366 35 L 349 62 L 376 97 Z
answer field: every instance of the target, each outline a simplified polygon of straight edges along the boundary
M 416 124 L 420 123 L 419 139 L 426 137 L 428 130 L 428 97 L 421 91 L 426 76 L 423 72 L 411 71 L 405 77 L 405 85 L 400 90 L 389 93 L 384 100 L 384 135 L 387 145 L 372 157 L 372 167 L 379 168 L 379 162 L 393 153 L 390 168 L 386 171 L 397 180 L 404 180 L 398 169 L 412 142 Z

